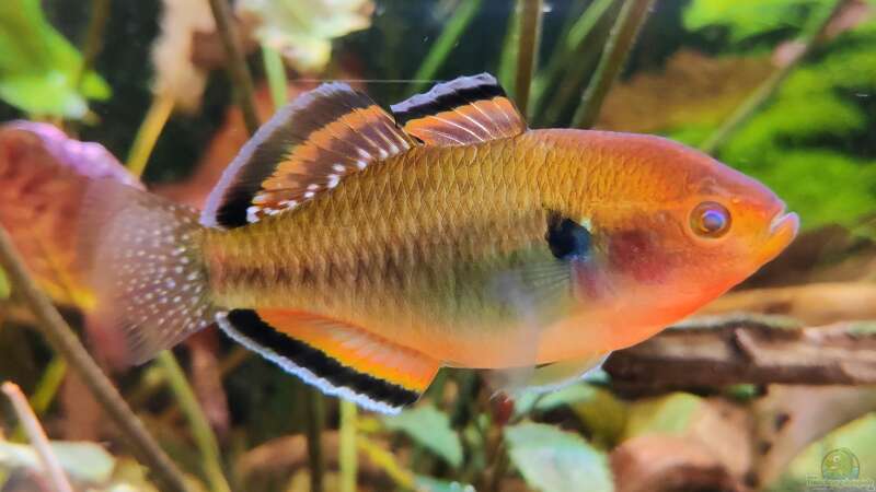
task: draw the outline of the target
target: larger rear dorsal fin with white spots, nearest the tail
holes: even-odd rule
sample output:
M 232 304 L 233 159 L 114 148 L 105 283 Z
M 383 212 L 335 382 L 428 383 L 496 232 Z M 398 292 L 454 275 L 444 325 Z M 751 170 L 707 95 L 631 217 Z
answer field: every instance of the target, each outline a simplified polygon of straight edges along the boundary
M 210 194 L 201 222 L 256 222 L 414 144 L 367 95 L 342 83 L 320 85 L 277 112 L 241 149 Z

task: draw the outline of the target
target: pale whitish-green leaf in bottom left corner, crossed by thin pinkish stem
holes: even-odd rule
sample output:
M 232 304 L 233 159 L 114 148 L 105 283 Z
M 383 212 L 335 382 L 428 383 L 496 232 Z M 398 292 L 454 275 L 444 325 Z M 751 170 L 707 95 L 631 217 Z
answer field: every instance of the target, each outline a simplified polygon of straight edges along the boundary
M 71 478 L 104 483 L 112 477 L 115 458 L 93 443 L 53 442 L 51 452 Z M 36 452 L 30 445 L 0 442 L 0 467 L 42 470 Z

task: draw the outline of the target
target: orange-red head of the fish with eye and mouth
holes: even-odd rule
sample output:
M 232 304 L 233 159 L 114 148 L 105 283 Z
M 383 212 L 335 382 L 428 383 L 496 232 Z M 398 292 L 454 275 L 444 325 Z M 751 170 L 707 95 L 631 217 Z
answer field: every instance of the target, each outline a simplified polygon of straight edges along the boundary
M 592 133 L 591 162 L 599 164 L 580 186 L 596 183 L 596 191 L 583 194 L 591 204 L 579 210 L 595 251 L 579 280 L 585 295 L 613 292 L 615 312 L 675 323 L 751 276 L 797 234 L 797 215 L 772 190 L 702 152 L 657 137 Z

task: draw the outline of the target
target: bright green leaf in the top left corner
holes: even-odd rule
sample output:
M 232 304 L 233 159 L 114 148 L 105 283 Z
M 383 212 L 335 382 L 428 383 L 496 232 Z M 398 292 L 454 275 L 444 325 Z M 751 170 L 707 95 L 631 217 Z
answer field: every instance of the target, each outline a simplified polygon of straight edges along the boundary
M 0 2 L 0 98 L 32 115 L 82 118 L 85 98 L 105 99 L 110 86 L 94 72 L 80 83 L 81 68 L 81 55 L 46 21 L 39 0 Z

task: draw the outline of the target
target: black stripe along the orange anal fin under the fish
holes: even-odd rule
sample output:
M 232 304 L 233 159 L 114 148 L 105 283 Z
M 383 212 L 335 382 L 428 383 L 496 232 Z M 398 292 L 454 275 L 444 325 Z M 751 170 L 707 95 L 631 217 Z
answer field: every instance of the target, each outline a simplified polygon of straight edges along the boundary
M 419 399 L 416 391 L 347 367 L 323 351 L 277 331 L 255 311 L 233 309 L 228 313 L 228 320 L 244 337 L 270 348 L 296 365 L 307 367 L 333 386 L 349 388 L 393 407 L 404 407 Z

